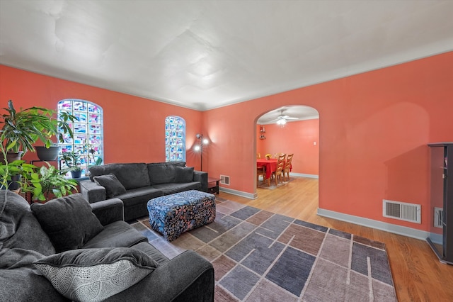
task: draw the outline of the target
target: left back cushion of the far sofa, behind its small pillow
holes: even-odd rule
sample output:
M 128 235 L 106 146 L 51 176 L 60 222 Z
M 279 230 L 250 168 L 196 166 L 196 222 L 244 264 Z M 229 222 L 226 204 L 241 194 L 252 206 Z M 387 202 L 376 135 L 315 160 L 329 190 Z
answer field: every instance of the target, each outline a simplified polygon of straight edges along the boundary
M 90 178 L 106 174 L 115 174 L 126 190 L 150 186 L 147 164 L 103 164 L 90 167 Z

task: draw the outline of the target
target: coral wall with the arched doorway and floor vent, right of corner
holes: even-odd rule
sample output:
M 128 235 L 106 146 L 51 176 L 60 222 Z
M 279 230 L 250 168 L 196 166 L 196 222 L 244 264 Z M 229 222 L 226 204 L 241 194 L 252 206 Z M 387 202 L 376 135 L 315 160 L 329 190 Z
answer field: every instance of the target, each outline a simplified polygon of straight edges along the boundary
M 311 106 L 320 116 L 319 208 L 429 230 L 427 144 L 453 141 L 452 83 L 447 52 L 206 111 L 216 141 L 209 172 L 253 194 L 256 120 L 280 106 Z M 384 198 L 421 204 L 421 225 L 383 218 Z

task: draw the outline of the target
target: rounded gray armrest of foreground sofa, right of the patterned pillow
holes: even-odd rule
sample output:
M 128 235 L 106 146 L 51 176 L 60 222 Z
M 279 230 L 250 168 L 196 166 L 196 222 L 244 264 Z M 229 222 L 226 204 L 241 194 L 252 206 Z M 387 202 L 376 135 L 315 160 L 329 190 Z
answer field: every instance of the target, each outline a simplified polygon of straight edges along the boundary
M 214 268 L 188 250 L 106 301 L 214 301 Z

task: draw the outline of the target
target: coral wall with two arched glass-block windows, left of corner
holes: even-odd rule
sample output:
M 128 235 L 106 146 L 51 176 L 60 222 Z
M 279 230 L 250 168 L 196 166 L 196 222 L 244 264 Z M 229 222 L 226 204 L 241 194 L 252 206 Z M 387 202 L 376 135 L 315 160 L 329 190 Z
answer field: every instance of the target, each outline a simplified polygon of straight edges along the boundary
M 56 110 L 62 99 L 98 104 L 104 113 L 105 163 L 164 162 L 165 118 L 180 116 L 187 125 L 186 161 L 200 167 L 200 157 L 190 149 L 202 129 L 200 111 L 0 65 L 0 107 L 8 106 L 9 99 L 16 110 L 31 106 Z M 38 157 L 28 152 L 24 159 Z

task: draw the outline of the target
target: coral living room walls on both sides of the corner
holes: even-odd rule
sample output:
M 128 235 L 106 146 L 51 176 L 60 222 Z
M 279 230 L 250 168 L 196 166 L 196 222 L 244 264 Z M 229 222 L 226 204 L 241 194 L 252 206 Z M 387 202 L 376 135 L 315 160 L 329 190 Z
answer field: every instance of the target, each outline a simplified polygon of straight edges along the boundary
M 319 112 L 319 208 L 429 230 L 427 143 L 453 141 L 452 83 L 447 52 L 199 112 L 0 65 L 0 104 L 55 108 L 67 98 L 99 104 L 105 162 L 163 161 L 164 119 L 181 116 L 188 165 L 200 167 L 192 147 L 203 133 L 211 141 L 203 170 L 228 175 L 229 189 L 248 194 L 256 192 L 258 117 L 280 106 L 311 106 Z M 383 218 L 383 198 L 421 204 L 422 224 Z

